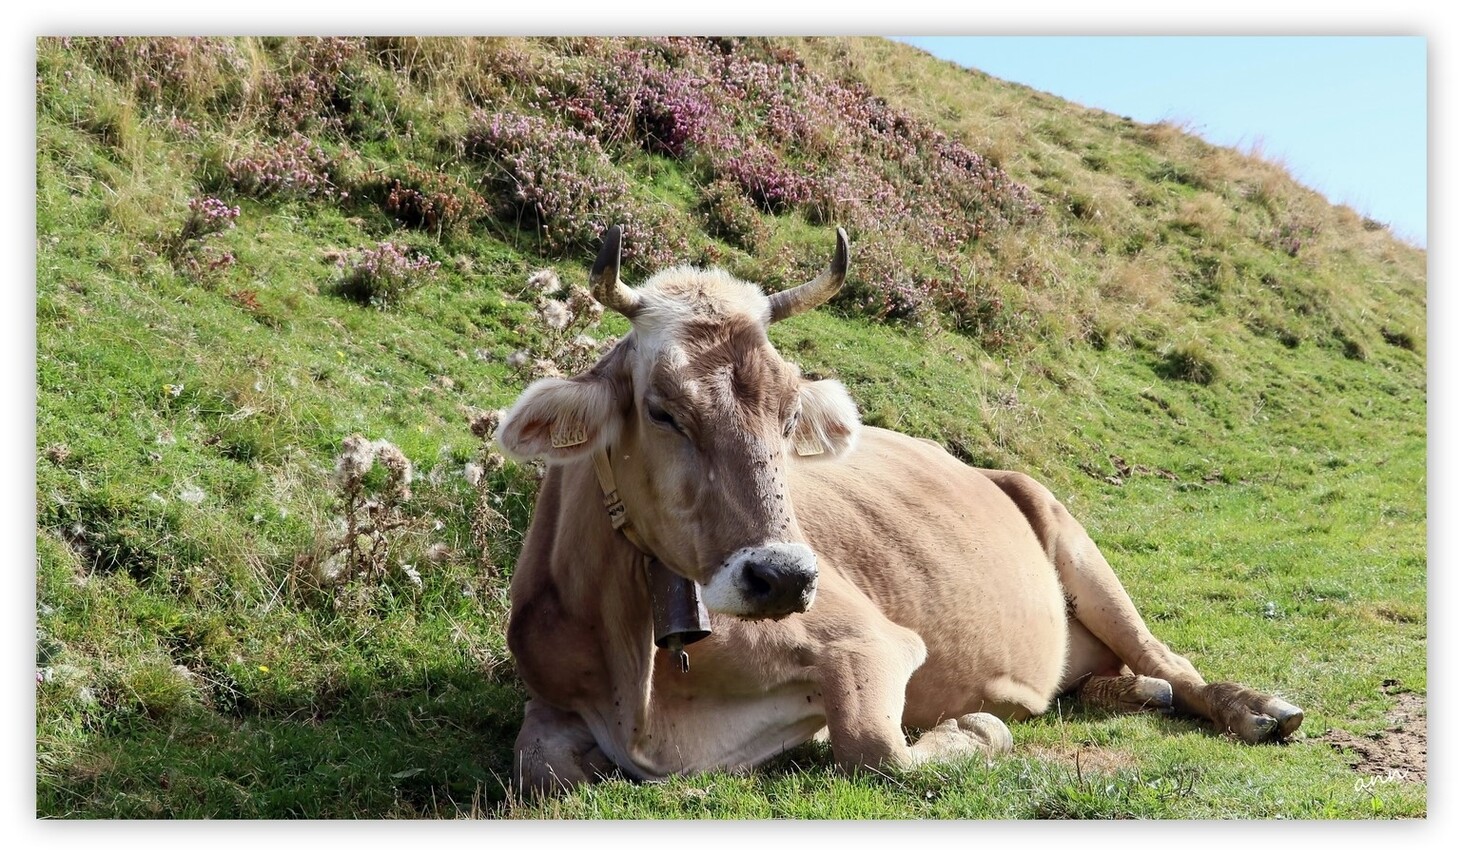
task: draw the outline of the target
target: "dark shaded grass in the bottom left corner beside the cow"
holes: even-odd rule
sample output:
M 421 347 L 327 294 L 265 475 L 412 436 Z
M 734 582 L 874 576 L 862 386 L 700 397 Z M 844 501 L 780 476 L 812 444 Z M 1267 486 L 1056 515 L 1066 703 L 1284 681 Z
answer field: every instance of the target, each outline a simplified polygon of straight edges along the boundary
M 42 818 L 494 816 L 523 694 L 463 664 L 345 682 L 320 705 L 99 721 L 38 745 Z

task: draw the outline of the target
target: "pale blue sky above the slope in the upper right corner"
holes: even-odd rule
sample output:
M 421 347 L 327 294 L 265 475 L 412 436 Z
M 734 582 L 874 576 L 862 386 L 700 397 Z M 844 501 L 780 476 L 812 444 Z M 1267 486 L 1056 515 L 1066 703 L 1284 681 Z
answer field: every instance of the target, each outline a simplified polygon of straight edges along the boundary
M 1259 145 L 1332 202 L 1427 244 L 1423 37 L 921 37 L 934 56 L 1209 142 Z

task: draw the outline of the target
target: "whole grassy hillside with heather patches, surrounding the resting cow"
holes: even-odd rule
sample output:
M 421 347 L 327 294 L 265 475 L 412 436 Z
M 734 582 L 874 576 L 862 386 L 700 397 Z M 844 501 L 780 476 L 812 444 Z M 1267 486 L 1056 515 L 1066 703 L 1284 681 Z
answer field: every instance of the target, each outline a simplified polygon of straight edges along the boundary
M 1041 477 L 1300 737 L 1069 701 L 993 764 L 504 793 L 596 236 L 781 288 L 864 421 Z M 42 816 L 1425 814 L 1425 256 L 1281 165 L 882 40 L 37 42 Z M 1395 745 L 1421 749 L 1421 765 Z

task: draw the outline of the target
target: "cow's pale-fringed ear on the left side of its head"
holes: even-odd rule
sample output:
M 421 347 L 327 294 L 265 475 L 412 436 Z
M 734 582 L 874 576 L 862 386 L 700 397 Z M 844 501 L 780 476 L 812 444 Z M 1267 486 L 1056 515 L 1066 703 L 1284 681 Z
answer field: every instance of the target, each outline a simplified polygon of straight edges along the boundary
M 616 383 L 589 372 L 577 378 L 544 378 L 518 397 L 497 426 L 497 445 L 518 461 L 572 461 L 618 439 Z

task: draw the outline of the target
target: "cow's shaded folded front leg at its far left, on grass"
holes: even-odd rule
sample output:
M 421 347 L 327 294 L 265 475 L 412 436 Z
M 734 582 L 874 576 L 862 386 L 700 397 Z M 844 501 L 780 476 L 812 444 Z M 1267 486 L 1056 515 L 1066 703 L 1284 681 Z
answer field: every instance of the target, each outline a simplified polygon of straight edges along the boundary
M 513 787 L 523 796 L 553 796 L 614 773 L 579 714 L 529 699 L 513 743 Z

